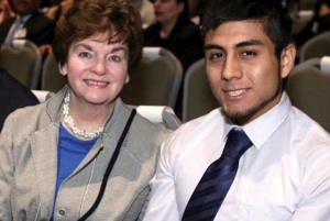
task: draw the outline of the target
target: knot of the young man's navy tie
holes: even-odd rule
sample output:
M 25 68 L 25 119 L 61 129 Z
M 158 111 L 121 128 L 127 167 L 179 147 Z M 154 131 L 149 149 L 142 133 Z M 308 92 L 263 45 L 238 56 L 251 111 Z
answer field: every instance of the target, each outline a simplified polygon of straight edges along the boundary
M 248 148 L 252 146 L 252 142 L 243 130 L 233 128 L 227 137 L 222 156 L 231 158 L 240 158 Z

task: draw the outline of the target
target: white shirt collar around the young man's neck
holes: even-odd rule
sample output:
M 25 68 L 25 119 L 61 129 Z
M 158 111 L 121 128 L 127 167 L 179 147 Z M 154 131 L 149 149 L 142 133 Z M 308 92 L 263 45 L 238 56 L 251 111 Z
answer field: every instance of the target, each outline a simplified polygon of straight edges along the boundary
M 285 121 L 290 110 L 290 100 L 284 91 L 280 101 L 275 107 L 243 126 L 232 124 L 229 120 L 224 120 L 223 141 L 227 139 L 227 135 L 232 128 L 242 128 L 253 145 L 260 150 L 265 141 L 268 140 L 268 137 Z

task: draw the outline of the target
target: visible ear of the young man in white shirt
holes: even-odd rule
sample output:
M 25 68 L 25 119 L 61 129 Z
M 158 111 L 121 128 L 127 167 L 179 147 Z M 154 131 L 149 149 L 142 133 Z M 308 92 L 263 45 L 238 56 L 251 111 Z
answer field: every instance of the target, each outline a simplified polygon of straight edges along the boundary
M 295 66 L 296 46 L 288 44 L 280 54 L 280 77 L 286 78 Z

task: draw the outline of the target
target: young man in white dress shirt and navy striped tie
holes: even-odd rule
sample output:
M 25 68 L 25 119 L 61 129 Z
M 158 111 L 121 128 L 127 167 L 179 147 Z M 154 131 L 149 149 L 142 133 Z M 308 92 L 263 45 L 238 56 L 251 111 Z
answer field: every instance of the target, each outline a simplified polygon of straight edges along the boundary
M 221 108 L 163 144 L 145 221 L 330 220 L 330 136 L 283 91 L 296 48 L 275 2 L 207 9 L 206 70 Z

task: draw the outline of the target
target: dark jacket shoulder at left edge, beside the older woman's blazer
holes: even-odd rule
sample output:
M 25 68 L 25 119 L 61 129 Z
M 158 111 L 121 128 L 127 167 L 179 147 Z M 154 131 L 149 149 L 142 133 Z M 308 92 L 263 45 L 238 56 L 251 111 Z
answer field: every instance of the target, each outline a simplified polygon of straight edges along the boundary
M 0 68 L 0 132 L 6 118 L 11 112 L 18 108 L 37 103 L 37 98 L 29 88 L 24 87 L 4 69 Z

